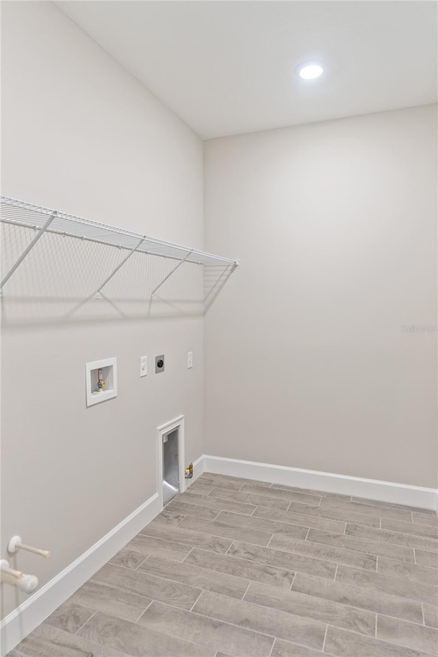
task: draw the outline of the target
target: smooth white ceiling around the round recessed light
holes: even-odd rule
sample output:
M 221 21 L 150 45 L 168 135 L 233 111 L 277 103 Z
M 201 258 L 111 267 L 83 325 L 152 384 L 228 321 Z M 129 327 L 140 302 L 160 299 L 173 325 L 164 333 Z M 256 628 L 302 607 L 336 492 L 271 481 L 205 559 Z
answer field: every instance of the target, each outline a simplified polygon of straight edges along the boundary
M 205 139 L 437 101 L 435 0 L 56 4 Z

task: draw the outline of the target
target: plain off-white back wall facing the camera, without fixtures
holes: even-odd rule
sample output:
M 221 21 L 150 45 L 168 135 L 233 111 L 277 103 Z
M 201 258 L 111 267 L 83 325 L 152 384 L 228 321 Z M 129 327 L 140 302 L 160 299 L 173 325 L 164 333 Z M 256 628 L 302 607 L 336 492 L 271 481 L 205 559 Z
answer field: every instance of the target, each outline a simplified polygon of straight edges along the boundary
M 210 140 L 206 454 L 437 486 L 434 106 Z

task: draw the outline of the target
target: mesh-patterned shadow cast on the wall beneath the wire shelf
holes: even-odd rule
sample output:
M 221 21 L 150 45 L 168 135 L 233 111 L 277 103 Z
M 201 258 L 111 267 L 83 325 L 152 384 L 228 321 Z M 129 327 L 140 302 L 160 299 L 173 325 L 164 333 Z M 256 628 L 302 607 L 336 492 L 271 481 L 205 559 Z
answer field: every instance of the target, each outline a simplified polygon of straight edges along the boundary
M 3 279 L 34 238 L 34 230 L 8 224 L 1 230 Z M 101 288 L 125 257 L 126 251 L 116 247 L 44 234 L 5 283 L 3 326 L 199 316 L 234 270 L 228 264 L 184 262 L 166 280 L 177 260 L 133 253 Z

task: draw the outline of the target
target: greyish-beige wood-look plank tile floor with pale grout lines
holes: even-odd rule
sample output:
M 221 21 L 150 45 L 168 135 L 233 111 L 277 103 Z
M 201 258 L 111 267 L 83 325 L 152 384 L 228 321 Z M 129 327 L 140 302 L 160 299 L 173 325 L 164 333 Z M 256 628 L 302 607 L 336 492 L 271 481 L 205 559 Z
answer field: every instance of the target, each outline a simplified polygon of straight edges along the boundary
M 438 656 L 437 513 L 204 473 L 10 657 Z

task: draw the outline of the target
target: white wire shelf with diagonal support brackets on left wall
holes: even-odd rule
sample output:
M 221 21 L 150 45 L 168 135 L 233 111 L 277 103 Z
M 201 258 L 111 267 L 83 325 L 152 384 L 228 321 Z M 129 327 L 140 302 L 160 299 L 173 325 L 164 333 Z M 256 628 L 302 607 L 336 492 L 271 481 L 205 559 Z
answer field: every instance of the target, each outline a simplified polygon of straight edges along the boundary
M 77 238 L 79 240 L 88 240 L 97 244 L 103 244 L 118 249 L 125 249 L 127 252 L 123 260 L 118 264 L 116 269 L 110 273 L 105 281 L 99 284 L 96 288 L 96 295 L 99 294 L 101 288 L 114 276 L 120 267 L 127 262 L 133 253 L 145 253 L 152 256 L 160 256 L 162 258 L 170 258 L 176 260 L 175 267 L 166 275 L 164 280 L 157 285 L 153 290 L 152 296 L 157 289 L 168 280 L 168 278 L 183 264 L 190 262 L 202 265 L 222 265 L 234 269 L 239 264 L 239 260 L 231 258 L 223 258 L 216 256 L 213 253 L 199 251 L 183 245 L 166 242 L 164 240 L 157 240 L 147 235 L 134 233 L 114 226 L 97 223 L 83 219 L 73 214 L 66 214 L 59 210 L 50 210 L 49 208 L 42 208 L 32 203 L 25 201 L 18 201 L 10 197 L 0 196 L 0 221 L 5 224 L 27 227 L 35 230 L 35 236 L 25 249 L 21 256 L 10 267 L 8 273 L 3 276 L 0 283 L 0 290 L 14 274 L 14 271 L 25 260 L 31 249 L 36 245 L 38 240 L 46 234 L 57 234 L 61 236 L 68 236 L 70 238 Z

